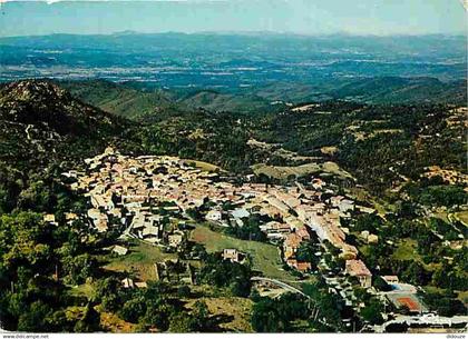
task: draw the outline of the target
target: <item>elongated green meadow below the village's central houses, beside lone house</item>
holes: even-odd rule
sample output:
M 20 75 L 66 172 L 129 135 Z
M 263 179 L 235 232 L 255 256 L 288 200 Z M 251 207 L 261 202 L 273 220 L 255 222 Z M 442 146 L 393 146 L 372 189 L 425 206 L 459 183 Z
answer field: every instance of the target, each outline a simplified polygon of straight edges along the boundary
M 250 253 L 253 258 L 253 268 L 262 271 L 265 277 L 281 280 L 296 280 L 283 270 L 279 249 L 273 245 L 232 238 L 212 231 L 206 226 L 197 226 L 192 231 L 191 239 L 204 245 L 208 252 L 222 251 L 225 248 L 235 248 Z

